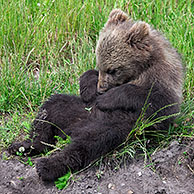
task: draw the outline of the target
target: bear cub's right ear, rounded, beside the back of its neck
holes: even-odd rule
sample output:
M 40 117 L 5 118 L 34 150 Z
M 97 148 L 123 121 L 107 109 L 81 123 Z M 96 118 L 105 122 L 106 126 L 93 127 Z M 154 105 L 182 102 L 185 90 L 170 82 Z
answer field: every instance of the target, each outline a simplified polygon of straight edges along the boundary
M 127 43 L 135 45 L 141 43 L 141 41 L 147 37 L 150 33 L 150 26 L 145 22 L 137 22 L 133 24 L 127 33 Z

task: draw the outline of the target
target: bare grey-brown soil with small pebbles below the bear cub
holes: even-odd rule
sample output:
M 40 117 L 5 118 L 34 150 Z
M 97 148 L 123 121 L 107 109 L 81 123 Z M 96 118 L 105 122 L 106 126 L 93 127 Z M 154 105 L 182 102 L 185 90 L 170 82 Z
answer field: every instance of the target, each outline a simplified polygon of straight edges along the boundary
M 35 159 L 36 160 L 36 159 Z M 117 170 L 105 159 L 75 175 L 65 190 L 43 183 L 35 167 L 15 159 L 0 160 L 0 193 L 2 194 L 193 194 L 194 139 L 174 141 L 152 155 L 152 163 L 128 160 Z M 100 167 L 99 167 L 100 166 Z

